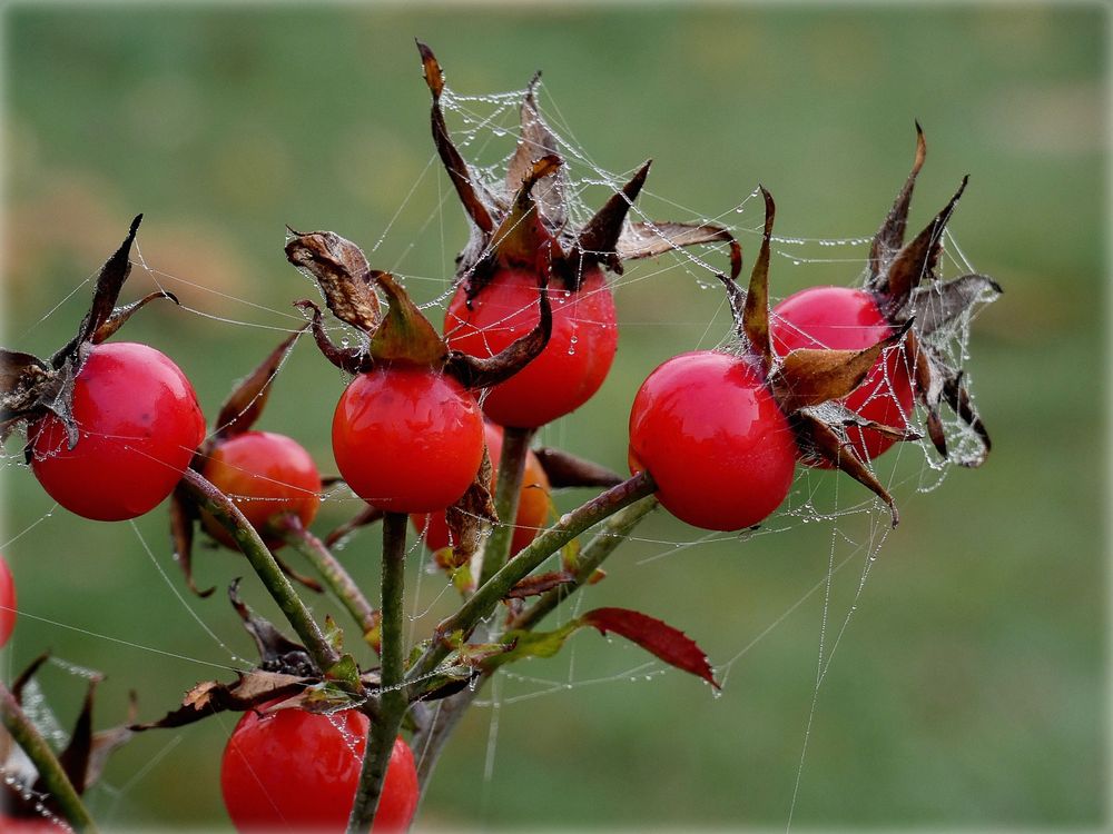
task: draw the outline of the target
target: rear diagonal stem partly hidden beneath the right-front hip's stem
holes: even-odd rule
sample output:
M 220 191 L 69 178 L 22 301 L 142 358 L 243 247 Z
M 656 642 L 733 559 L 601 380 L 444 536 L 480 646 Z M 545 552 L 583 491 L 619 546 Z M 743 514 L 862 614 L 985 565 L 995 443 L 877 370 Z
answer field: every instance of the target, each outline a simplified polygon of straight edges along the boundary
M 579 566 L 575 572 L 575 582 L 562 585 L 542 595 L 531 608 L 514 618 L 506 631 L 530 631 L 548 616 L 558 605 L 582 588 L 590 579 L 595 569 L 614 552 L 614 549 L 626 540 L 627 536 L 637 527 L 641 520 L 660 506 L 657 498 L 646 497 L 624 509 L 619 510 L 607 519 L 603 528 L 588 543 L 580 554 Z M 455 729 L 456 724 L 467 712 L 475 696 L 482 689 L 484 682 L 491 673 L 485 673 L 476 682 L 475 686 L 469 687 L 452 697 L 436 703 L 431 709 L 429 721 L 414 736 L 413 748 L 417 757 L 417 784 L 424 788 L 436 762 L 441 756 L 441 751 Z

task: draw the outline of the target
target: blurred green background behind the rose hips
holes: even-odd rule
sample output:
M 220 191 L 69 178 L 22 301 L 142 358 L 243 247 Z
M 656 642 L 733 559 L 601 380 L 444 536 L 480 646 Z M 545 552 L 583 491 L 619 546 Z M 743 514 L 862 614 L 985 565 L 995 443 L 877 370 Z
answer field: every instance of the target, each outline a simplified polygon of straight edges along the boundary
M 750 252 L 760 214 L 754 202 L 731 210 L 759 181 L 777 198 L 781 235 L 871 235 L 906 176 L 918 118 L 929 153 L 914 227 L 971 173 L 951 228 L 1006 290 L 975 322 L 967 366 L 995 440 L 987 465 L 919 492 L 936 476 L 916 449 L 878 461 L 904 520 L 857 599 L 863 545 L 880 534 L 881 514 L 809 525 L 782 516 L 770 525 L 782 532 L 746 542 L 702 542 L 654 517 L 583 604 L 662 617 L 716 664 L 745 651 L 722 696 L 681 673 L 630 679 L 639 649 L 580 635 L 560 657 L 513 671 L 603 683 L 503 682 L 494 716 L 476 709 L 460 728 L 420 823 L 784 827 L 791 814 L 796 827 L 981 828 L 1104 818 L 1104 7 L 24 3 L 8 6 L 3 22 L 4 344 L 46 353 L 72 332 L 88 300 L 81 281 L 144 211 L 142 257 L 194 311 L 151 308 L 128 337 L 175 356 L 209 415 L 277 342 L 270 328 L 296 324 L 289 302 L 311 294 L 284 260 L 284 224 L 333 229 L 368 250 L 382 238 L 373 265 L 406 276 L 423 299 L 445 290 L 465 227 L 433 158 L 415 36 L 460 93 L 521 89 L 543 69 L 544 111 L 595 165 L 626 171 L 654 159 L 647 215 L 722 216 Z M 510 151 L 510 139 L 487 138 L 494 159 Z M 850 284 L 865 258 L 864 246 L 779 251 L 776 296 Z M 794 266 L 801 256 L 823 262 Z M 628 277 L 608 383 L 542 438 L 617 469 L 639 381 L 729 327 L 720 295 L 700 292 L 706 276 L 681 261 Z M 128 297 L 149 281 L 137 269 Z M 264 427 L 297 437 L 327 470 L 343 380 L 326 367 L 299 345 Z M 99 669 L 107 726 L 124 718 L 128 689 L 151 718 L 197 681 L 228 678 L 208 664 L 250 656 L 221 594 L 188 602 L 218 639 L 176 598 L 185 589 L 165 509 L 135 529 L 47 515 L 51 502 L 20 465 L 19 444 L 8 454 L 0 538 L 24 612 L 9 679 L 47 647 Z M 831 484 L 802 478 L 794 500 L 815 489 L 830 509 Z M 840 484 L 838 506 L 856 505 L 857 488 Z M 319 529 L 355 510 L 327 504 Z M 375 587 L 374 533 L 342 556 Z M 829 560 L 847 558 L 825 629 L 821 582 Z M 199 582 L 219 586 L 246 567 L 224 552 L 196 563 Z M 439 577 L 420 584 L 417 635 L 451 603 Z M 268 610 L 257 586 L 245 593 Z M 830 648 L 851 605 L 808 732 L 820 641 Z M 335 608 L 316 603 L 322 615 Z M 68 723 L 81 678 L 51 666 L 42 685 Z M 151 733 L 119 752 L 92 798 L 106 826 L 227 830 L 217 763 L 230 725 Z

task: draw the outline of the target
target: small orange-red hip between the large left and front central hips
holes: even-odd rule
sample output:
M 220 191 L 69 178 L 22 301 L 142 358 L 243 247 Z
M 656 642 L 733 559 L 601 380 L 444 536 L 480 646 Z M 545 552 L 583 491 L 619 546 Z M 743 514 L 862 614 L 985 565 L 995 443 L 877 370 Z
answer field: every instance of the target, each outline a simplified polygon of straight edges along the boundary
M 293 513 L 308 526 L 321 505 L 321 475 L 305 448 L 286 435 L 245 431 L 223 440 L 205 461 L 201 474 L 221 493 L 232 497 L 240 512 L 260 533 L 267 522 Z M 236 548 L 224 525 L 203 516 L 205 529 L 220 544 Z M 282 544 L 264 537 L 267 547 Z

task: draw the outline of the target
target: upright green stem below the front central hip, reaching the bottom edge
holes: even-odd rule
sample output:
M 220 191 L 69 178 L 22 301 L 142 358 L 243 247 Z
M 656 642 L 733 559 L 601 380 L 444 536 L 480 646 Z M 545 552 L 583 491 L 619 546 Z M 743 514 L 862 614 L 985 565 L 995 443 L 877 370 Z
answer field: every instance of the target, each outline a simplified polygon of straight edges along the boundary
M 382 691 L 378 713 L 371 724 L 367 747 L 355 804 L 348 817 L 348 834 L 366 834 L 375 820 L 378 796 L 383 791 L 386 767 L 394 752 L 394 739 L 402 726 L 408 701 L 403 684 L 405 674 L 405 646 L 403 645 L 403 592 L 406 575 L 405 513 L 387 513 L 383 517 L 383 573 L 382 573 Z

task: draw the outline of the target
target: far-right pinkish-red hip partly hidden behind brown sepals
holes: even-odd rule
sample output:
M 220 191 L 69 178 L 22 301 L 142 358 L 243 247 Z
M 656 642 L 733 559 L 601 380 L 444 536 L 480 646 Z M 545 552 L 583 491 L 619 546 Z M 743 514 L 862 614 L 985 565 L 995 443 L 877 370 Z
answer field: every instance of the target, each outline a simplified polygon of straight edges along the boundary
M 874 297 L 848 287 L 812 287 L 789 296 L 774 308 L 769 329 L 774 349 L 781 356 L 798 348 L 859 350 L 893 332 Z M 907 428 L 913 381 L 904 349 L 884 351 L 844 405 L 867 420 Z M 847 437 L 863 459 L 875 458 L 896 443 L 874 429 L 854 426 L 847 428 Z

